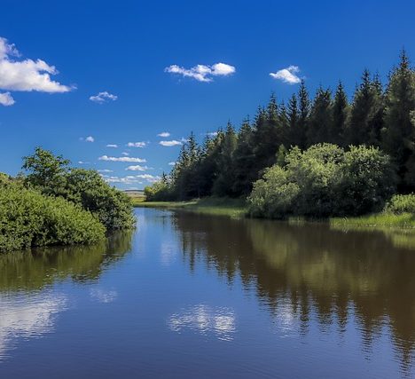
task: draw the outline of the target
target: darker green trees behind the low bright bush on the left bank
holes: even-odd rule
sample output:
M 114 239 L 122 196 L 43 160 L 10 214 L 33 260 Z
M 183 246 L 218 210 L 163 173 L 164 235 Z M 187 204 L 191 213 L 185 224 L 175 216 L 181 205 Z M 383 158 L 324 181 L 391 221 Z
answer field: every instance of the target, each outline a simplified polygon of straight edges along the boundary
M 69 161 L 41 147 L 24 158 L 28 171 L 27 186 L 44 195 L 62 197 L 89 210 L 106 229 L 131 228 L 135 225 L 129 197 L 108 186 L 95 170 L 72 169 Z

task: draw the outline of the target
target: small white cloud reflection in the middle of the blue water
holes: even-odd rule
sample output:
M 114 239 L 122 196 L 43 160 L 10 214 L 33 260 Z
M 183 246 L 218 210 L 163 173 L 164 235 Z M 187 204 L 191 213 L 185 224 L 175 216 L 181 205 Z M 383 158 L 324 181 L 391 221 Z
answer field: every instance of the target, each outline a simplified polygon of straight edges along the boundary
M 218 339 L 231 341 L 236 329 L 235 315 L 229 308 L 212 309 L 205 304 L 198 304 L 172 314 L 168 319 L 168 328 L 175 332 L 190 328 L 204 336 L 213 333 Z

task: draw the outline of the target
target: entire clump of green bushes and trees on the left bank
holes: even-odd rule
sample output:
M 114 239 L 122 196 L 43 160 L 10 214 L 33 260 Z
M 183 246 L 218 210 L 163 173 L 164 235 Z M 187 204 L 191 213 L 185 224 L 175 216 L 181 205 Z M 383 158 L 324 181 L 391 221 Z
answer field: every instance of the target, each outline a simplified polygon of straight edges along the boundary
M 73 168 L 40 147 L 22 169 L 16 178 L 0 173 L 0 252 L 93 243 L 134 227 L 129 197 L 96 170 Z

